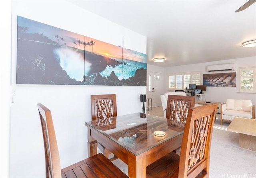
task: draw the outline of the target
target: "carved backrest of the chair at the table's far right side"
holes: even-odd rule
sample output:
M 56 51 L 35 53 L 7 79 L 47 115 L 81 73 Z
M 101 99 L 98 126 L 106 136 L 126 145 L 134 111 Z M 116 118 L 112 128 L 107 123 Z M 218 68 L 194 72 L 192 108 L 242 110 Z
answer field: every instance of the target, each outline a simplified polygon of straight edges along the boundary
M 188 108 L 195 106 L 195 96 L 168 95 L 166 118 L 186 122 Z

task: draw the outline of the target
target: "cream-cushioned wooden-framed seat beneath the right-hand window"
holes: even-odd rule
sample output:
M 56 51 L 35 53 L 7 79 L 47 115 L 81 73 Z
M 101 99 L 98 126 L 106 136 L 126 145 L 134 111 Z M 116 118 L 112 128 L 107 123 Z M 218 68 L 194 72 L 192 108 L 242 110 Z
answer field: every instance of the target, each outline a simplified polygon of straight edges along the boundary
M 232 121 L 234 117 L 255 118 L 255 106 L 251 100 L 227 99 L 220 105 L 220 125 L 223 121 Z

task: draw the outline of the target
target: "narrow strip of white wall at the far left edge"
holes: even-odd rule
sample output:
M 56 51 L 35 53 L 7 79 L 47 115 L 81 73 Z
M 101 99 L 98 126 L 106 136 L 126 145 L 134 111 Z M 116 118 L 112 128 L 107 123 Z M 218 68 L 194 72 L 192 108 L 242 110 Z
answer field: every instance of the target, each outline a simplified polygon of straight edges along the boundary
M 11 2 L 0 2 L 0 177 L 9 177 L 10 71 L 11 71 Z

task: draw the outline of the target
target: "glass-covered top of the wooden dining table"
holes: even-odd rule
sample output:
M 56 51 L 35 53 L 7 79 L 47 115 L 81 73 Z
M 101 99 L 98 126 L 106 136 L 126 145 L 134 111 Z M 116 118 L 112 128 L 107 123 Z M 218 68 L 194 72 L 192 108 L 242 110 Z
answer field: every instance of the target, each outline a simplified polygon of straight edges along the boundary
M 132 113 L 89 121 L 85 125 L 90 125 L 134 155 L 139 155 L 183 134 L 185 123 L 145 113 Z

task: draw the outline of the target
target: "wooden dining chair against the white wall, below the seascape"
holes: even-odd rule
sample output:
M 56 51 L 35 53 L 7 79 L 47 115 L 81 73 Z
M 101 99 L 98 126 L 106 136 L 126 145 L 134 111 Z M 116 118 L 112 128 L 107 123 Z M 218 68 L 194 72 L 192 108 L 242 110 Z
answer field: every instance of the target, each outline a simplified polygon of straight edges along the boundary
M 100 94 L 91 95 L 91 110 L 92 110 L 92 121 L 98 119 L 106 119 L 108 117 L 116 117 L 116 94 Z M 108 151 L 103 145 L 98 142 L 98 148 L 108 158 L 112 153 Z M 113 155 L 110 160 L 114 160 L 117 157 Z

